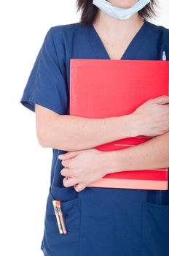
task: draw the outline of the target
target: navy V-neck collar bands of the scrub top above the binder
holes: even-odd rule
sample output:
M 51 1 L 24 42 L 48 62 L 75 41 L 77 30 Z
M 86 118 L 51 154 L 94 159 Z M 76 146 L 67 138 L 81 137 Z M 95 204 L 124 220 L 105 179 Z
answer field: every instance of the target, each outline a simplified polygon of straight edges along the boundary
M 147 33 L 149 31 L 148 26 L 149 21 L 144 20 L 144 24 L 135 34 L 120 60 L 135 59 L 137 57 L 138 51 L 141 49 L 141 47 L 144 45 L 144 42 L 146 41 Z M 97 31 L 94 28 L 93 23 L 85 25 L 84 30 L 87 33 L 87 37 L 90 40 L 90 44 L 92 45 L 92 48 L 95 51 L 97 58 L 111 59 L 105 46 L 103 45 L 103 42 L 101 41 L 101 38 L 99 37 Z

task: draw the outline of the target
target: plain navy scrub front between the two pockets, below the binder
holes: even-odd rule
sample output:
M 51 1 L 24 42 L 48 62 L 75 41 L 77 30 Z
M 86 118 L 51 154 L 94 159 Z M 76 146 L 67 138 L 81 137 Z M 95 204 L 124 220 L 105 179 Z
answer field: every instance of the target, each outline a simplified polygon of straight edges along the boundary
M 79 197 L 80 256 L 139 255 L 144 191 L 86 187 Z

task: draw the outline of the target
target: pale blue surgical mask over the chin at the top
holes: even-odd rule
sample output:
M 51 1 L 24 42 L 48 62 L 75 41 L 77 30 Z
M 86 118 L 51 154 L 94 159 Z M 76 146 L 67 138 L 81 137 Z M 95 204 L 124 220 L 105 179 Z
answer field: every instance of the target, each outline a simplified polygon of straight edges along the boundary
M 134 15 L 135 12 L 143 9 L 146 4 L 150 3 L 150 1 L 151 0 L 138 0 L 135 4 L 133 4 L 132 7 L 129 8 L 117 7 L 106 0 L 93 0 L 93 4 L 95 4 L 95 6 L 98 7 L 100 10 L 106 12 L 106 14 L 111 15 L 114 18 L 117 18 L 119 20 L 127 20 L 132 15 Z

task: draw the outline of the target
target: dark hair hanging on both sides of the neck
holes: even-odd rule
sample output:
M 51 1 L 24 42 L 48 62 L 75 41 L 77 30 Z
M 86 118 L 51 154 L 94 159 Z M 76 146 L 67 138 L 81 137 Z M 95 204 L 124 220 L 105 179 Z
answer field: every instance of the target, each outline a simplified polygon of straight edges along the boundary
M 93 23 L 93 20 L 95 19 L 98 11 L 98 7 L 93 4 L 93 0 L 76 0 L 76 7 L 77 12 L 79 10 L 82 11 L 80 23 Z M 158 7 L 157 0 L 151 0 L 151 2 L 146 4 L 142 10 L 138 11 L 138 15 L 140 15 L 141 18 L 144 18 L 145 20 L 148 18 L 156 17 L 157 13 L 155 12 L 154 7 Z

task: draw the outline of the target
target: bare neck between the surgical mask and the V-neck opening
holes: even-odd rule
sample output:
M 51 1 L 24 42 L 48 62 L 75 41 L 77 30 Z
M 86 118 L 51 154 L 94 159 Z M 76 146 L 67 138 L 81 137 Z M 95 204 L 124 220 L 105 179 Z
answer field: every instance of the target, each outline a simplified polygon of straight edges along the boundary
M 102 31 L 105 39 L 125 39 L 130 34 L 135 33 L 144 24 L 144 20 L 136 12 L 128 20 L 118 20 L 117 18 L 107 15 L 98 9 L 98 13 L 93 21 L 93 26 Z

